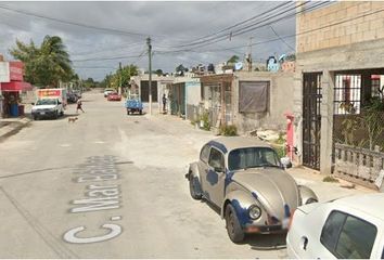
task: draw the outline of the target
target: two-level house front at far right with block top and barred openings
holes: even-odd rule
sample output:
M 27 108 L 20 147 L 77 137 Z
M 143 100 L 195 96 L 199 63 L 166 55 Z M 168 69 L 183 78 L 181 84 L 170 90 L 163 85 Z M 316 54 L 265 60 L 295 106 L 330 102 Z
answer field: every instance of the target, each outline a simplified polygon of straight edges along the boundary
M 384 2 L 340 1 L 302 10 L 296 16 L 296 160 L 330 174 L 337 159 L 346 156 L 346 152 L 337 154 L 335 146 L 349 139 L 347 120 L 363 118 L 372 98 L 382 99 Z M 349 133 L 356 139 L 355 130 L 350 129 Z M 354 152 L 350 161 L 360 157 L 362 161 L 364 156 Z

